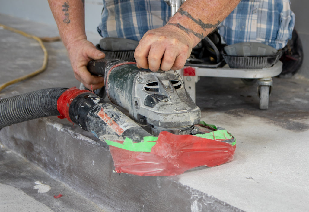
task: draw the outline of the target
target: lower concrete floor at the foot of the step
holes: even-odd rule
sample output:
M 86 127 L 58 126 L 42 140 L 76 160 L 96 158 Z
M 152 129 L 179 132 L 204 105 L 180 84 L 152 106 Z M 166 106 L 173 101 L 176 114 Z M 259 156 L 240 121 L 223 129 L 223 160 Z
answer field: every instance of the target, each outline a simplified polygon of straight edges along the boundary
M 95 203 L 25 157 L 0 145 L 1 211 L 95 211 Z M 55 198 L 61 194 L 59 198 Z

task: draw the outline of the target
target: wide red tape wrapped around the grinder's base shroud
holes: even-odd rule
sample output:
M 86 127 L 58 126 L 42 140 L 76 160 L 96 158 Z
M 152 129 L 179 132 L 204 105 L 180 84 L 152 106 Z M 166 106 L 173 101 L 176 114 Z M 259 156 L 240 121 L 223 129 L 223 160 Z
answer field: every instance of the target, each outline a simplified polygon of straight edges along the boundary
M 146 176 L 182 174 L 198 166 L 217 166 L 233 160 L 236 145 L 224 141 L 160 132 L 151 152 L 132 152 L 109 146 L 115 172 Z

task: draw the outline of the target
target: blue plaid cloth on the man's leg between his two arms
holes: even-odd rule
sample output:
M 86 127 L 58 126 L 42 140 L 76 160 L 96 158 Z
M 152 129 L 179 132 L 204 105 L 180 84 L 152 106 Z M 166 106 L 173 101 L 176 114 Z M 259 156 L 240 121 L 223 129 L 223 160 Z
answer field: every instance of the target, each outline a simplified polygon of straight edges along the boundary
M 102 37 L 139 41 L 150 29 L 164 26 L 171 7 L 164 0 L 103 0 L 102 20 L 97 30 Z

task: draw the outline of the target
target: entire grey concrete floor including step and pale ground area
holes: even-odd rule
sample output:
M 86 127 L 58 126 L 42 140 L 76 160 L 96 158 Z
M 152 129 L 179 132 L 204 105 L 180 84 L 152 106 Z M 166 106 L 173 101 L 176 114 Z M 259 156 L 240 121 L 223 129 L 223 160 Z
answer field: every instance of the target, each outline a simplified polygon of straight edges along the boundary
M 0 20 L 37 36 L 58 34 L 49 25 L 1 14 Z M 0 84 L 40 67 L 36 41 L 3 29 L 0 41 Z M 45 45 L 47 70 L 11 85 L 0 98 L 79 85 L 62 43 Z M 30 211 L 30 202 L 31 211 L 309 211 L 309 74 L 273 78 L 268 110 L 258 109 L 256 86 L 240 79 L 201 77 L 196 88 L 201 120 L 236 137 L 232 162 L 174 177 L 116 174 L 102 141 L 67 120 L 41 118 L 0 131 L 0 207 Z M 38 193 L 36 181 L 51 190 Z M 61 192 L 66 195 L 53 198 Z

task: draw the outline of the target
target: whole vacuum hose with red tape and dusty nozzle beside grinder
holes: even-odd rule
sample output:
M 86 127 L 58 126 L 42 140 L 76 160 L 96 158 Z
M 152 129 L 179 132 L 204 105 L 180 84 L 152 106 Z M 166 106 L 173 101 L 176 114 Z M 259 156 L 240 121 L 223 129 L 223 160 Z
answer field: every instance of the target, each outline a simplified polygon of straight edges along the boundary
M 101 140 L 135 142 L 152 136 L 120 110 L 87 90 L 49 88 L 0 100 L 0 128 L 46 116 L 67 118 Z

